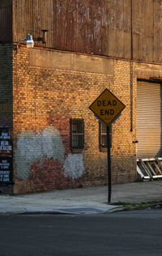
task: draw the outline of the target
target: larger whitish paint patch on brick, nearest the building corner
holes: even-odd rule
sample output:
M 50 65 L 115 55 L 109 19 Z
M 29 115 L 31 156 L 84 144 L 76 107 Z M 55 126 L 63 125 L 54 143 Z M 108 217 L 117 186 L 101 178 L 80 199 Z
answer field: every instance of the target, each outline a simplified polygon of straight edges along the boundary
M 25 131 L 19 134 L 15 150 L 17 177 L 28 180 L 32 163 L 40 160 L 43 164 L 45 157 L 64 162 L 65 148 L 57 129 L 49 126 L 42 133 Z

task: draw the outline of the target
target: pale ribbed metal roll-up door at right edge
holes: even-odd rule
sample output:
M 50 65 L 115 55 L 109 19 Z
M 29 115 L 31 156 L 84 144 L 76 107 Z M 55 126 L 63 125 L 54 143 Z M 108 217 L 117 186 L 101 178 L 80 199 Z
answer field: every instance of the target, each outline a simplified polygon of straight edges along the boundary
M 137 157 L 162 156 L 162 110 L 160 83 L 138 82 Z

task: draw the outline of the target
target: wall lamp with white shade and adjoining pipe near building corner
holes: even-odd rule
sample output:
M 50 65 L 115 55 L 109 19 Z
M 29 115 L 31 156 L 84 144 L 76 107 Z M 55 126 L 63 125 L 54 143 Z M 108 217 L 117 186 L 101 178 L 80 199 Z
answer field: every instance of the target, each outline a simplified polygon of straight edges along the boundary
M 18 49 L 19 49 L 19 42 L 21 42 L 21 41 L 26 41 L 27 48 L 33 48 L 34 47 L 34 41 L 42 41 L 42 43 L 45 44 L 46 41 L 47 41 L 46 32 L 48 32 L 48 30 L 43 29 L 42 32 L 43 32 L 43 36 L 42 37 L 37 37 L 37 38 L 33 38 L 32 39 L 32 35 L 28 34 L 27 38 L 20 39 L 17 42 L 17 44 L 16 44 L 16 48 L 15 48 L 16 51 L 18 51 Z

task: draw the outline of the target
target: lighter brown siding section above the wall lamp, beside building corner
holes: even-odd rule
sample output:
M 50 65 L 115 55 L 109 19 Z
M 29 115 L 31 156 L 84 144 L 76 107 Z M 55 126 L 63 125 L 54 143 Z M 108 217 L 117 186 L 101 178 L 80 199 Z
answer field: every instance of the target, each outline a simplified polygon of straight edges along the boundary
M 42 36 L 42 29 L 49 29 L 46 46 L 53 45 L 53 0 L 14 0 L 14 41 Z M 41 42 L 35 42 L 41 46 Z

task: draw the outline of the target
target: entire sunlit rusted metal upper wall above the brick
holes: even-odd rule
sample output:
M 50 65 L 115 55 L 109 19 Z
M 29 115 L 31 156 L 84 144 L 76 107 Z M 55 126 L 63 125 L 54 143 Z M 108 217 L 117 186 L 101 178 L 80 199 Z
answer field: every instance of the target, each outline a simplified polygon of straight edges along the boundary
M 13 1 L 14 41 L 48 29 L 46 47 L 161 62 L 161 0 Z

